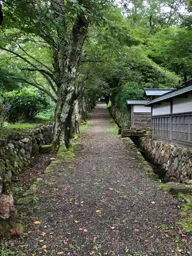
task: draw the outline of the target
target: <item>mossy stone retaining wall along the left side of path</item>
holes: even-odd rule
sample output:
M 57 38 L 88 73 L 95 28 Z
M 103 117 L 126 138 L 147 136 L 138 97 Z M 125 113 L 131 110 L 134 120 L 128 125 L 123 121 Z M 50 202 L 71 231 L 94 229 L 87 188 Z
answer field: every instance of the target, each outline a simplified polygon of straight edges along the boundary
M 39 154 L 39 146 L 51 143 L 52 129 L 52 125 L 44 125 L 28 135 L 16 133 L 0 140 L 0 194 L 7 190 L 13 176 L 31 164 Z

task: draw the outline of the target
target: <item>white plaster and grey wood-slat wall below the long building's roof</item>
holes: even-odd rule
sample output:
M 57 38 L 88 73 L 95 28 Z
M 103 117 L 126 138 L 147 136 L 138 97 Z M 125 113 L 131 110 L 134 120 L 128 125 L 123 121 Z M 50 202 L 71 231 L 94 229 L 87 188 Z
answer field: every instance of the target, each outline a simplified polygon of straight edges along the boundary
M 152 109 L 152 137 L 192 149 L 192 94 Z

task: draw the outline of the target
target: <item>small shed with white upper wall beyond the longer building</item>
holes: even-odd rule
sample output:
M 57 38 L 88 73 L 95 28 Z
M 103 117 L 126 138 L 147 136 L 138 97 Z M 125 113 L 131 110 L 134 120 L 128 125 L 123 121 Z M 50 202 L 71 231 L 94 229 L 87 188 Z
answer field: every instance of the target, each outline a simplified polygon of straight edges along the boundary
M 150 100 L 127 100 L 126 102 L 127 108 L 131 110 L 132 126 L 151 126 L 151 108 L 144 106 Z

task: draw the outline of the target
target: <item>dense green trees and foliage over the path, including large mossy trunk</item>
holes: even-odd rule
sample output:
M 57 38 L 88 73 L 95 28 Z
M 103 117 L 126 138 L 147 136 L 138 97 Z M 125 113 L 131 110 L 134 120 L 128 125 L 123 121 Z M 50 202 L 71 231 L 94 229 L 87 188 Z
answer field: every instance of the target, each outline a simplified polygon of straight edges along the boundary
M 103 96 L 128 125 L 126 99 L 192 76 L 191 9 L 190 0 L 4 0 L 1 125 L 54 120 L 53 144 L 68 147 L 73 120 Z

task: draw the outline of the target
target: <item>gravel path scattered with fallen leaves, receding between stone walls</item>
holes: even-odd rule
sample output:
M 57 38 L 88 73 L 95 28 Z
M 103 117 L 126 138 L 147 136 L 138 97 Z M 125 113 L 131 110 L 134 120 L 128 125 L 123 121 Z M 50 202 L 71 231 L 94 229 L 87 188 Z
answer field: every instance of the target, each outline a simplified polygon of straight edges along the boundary
M 58 163 L 40 185 L 38 206 L 28 208 L 40 224 L 14 241 L 18 255 L 192 254 L 175 229 L 178 202 L 134 166 L 102 106 L 77 158 Z

